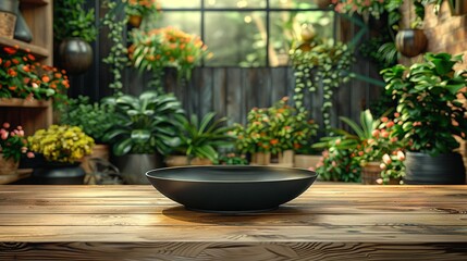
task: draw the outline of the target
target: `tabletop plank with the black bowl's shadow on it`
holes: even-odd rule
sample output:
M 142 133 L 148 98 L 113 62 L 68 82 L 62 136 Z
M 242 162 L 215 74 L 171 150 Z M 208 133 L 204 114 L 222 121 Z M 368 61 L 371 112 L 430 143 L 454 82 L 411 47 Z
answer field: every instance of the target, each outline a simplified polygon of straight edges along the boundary
M 60 210 L 60 211 L 59 211 Z M 63 213 L 62 213 L 63 211 Z M 152 213 L 65 213 L 64 208 L 45 214 L 0 214 L 1 226 L 257 226 L 293 227 L 293 226 L 460 226 L 467 227 L 466 214 L 426 213 L 366 213 L 366 214 L 319 214 L 302 212 L 300 209 L 282 210 L 274 214 L 216 214 L 185 210 L 182 207 L 156 209 Z M 33 214 L 33 213 L 32 213 Z M 466 235 L 467 236 L 467 235 Z

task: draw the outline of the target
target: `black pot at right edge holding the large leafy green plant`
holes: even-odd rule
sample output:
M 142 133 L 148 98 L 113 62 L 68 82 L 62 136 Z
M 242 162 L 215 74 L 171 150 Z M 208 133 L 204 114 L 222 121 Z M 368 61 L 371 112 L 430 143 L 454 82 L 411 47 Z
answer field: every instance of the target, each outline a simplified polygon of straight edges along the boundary
M 430 157 L 420 152 L 407 152 L 405 184 L 456 185 L 465 184 L 466 170 L 459 153 Z

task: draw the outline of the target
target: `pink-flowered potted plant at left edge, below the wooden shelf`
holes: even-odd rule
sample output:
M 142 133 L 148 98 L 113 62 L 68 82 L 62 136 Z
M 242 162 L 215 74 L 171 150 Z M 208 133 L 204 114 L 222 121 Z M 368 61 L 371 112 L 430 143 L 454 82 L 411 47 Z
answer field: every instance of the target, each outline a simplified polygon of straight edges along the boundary
M 11 128 L 10 123 L 4 122 L 0 127 L 0 175 L 15 174 L 21 157 L 25 153 L 34 158 L 34 153 L 27 151 L 23 127 Z

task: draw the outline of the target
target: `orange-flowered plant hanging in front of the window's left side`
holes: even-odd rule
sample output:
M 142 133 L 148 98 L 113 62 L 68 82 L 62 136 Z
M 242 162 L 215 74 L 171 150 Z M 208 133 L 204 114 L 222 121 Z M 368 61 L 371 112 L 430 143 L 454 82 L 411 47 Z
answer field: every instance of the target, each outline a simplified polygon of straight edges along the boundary
M 163 67 L 173 66 L 179 78 L 189 79 L 192 70 L 200 64 L 202 58 L 212 55 L 207 49 L 198 36 L 164 27 L 149 32 L 134 29 L 128 54 L 140 71 L 153 71 L 160 77 Z

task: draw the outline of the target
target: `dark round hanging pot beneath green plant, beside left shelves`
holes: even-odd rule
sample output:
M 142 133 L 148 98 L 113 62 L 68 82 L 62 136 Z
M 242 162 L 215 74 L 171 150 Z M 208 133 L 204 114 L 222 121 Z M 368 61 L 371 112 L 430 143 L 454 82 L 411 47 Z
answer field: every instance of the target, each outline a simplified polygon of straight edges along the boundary
M 79 38 L 65 39 L 60 44 L 59 57 L 69 74 L 82 74 L 93 64 L 93 48 Z

